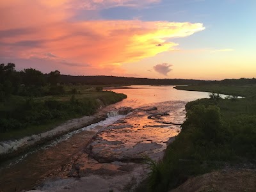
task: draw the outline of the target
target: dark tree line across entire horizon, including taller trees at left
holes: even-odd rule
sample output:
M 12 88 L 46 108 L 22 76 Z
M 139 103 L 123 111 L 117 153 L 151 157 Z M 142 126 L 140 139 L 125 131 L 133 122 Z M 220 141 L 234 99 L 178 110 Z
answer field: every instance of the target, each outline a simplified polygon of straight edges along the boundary
M 196 80 L 196 79 L 148 79 L 136 77 L 115 76 L 70 76 L 62 75 L 55 70 L 49 74 L 43 74 L 35 68 L 26 68 L 17 71 L 14 63 L 0 65 L 0 101 L 6 100 L 10 95 L 28 97 L 40 97 L 43 95 L 57 95 L 64 93 L 60 84 L 86 84 L 86 85 L 180 85 L 180 84 L 220 84 L 220 85 L 243 85 L 256 84 L 256 79 L 223 79 L 221 81 Z M 49 85 L 45 90 L 44 86 Z

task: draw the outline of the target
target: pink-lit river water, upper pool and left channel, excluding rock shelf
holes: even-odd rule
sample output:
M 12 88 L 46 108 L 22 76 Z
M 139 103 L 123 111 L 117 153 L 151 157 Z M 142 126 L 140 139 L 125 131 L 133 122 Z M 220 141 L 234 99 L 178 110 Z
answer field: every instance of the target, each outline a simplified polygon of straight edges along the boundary
M 51 175 L 53 170 L 70 162 L 78 152 L 83 150 L 97 130 L 124 118 L 124 116 L 118 115 L 115 109 L 157 106 L 159 110 L 169 110 L 170 116 L 163 117 L 163 121 L 180 124 L 185 118 L 186 102 L 209 97 L 208 93 L 176 90 L 173 89 L 173 86 L 131 86 L 129 89 L 113 91 L 124 93 L 127 95 L 127 99 L 109 106 L 109 117 L 106 120 L 69 132 L 44 146 L 33 148 L 28 153 L 2 164 L 0 167 L 0 191 L 31 189 L 40 180 Z M 127 120 L 129 121 L 129 118 Z M 141 127 L 146 125 L 147 119 L 140 124 Z

